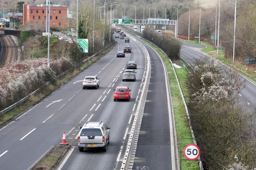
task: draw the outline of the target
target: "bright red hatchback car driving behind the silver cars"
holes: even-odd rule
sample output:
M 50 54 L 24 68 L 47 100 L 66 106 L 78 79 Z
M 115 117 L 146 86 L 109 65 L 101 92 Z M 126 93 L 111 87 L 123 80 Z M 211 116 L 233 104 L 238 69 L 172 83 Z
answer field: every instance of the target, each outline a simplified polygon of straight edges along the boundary
M 114 102 L 116 102 L 116 100 L 130 101 L 132 90 L 129 89 L 127 86 L 118 86 L 114 91 Z

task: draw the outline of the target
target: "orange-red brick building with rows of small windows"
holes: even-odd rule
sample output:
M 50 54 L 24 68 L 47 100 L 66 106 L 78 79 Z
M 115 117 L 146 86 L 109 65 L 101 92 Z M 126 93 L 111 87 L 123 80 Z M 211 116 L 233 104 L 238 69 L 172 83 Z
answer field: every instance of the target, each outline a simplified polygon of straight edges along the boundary
M 49 6 L 47 6 L 47 11 Z M 49 12 L 48 12 L 49 14 Z M 49 15 L 47 14 L 47 21 Z M 68 16 L 68 7 L 60 5 L 50 6 L 50 27 L 66 27 Z M 46 4 L 36 5 L 26 4 L 23 5 L 23 25 L 27 23 L 37 23 L 39 25 L 46 24 Z M 48 24 L 47 24 L 48 25 Z

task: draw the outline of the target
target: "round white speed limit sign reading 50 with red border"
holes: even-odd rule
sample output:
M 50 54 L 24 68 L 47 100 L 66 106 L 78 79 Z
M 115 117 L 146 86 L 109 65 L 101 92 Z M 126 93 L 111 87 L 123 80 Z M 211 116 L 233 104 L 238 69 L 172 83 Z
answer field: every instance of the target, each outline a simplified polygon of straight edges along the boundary
M 189 144 L 184 148 L 183 154 L 188 160 L 196 160 L 200 156 L 200 149 L 195 144 Z

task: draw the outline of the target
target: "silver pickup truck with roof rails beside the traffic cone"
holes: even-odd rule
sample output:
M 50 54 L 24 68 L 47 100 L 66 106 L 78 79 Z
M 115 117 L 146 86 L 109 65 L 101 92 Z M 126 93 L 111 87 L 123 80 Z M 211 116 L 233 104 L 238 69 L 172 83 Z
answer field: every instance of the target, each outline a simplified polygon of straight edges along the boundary
M 80 152 L 84 148 L 102 147 L 104 151 L 107 150 L 109 143 L 109 126 L 101 122 L 86 122 L 80 127 L 78 133 L 78 149 Z

